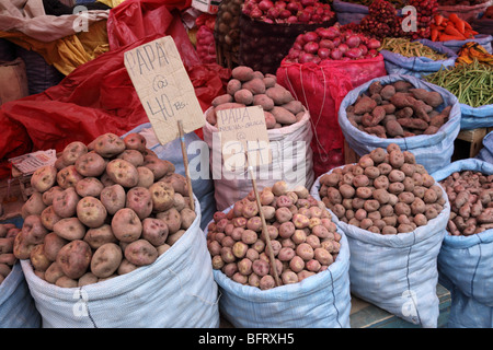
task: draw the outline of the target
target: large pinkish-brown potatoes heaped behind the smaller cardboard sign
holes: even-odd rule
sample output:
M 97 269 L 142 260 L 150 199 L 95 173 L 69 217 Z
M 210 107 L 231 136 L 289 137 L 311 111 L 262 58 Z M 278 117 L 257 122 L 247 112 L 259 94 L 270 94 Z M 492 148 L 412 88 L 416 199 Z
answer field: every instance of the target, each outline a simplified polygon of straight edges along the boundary
M 301 102 L 277 83 L 274 74 L 264 74 L 246 66 L 232 69 L 226 94 L 213 100 L 207 121 L 217 125 L 217 110 L 262 106 L 267 129 L 282 128 L 299 121 L 306 113 Z

